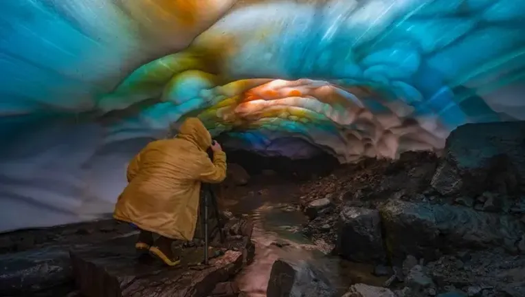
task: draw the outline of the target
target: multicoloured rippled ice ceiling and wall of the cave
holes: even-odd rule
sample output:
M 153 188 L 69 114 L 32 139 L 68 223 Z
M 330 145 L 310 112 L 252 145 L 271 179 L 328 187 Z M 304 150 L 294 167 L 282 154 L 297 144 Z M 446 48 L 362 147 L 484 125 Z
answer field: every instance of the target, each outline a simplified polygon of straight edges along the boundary
M 524 120 L 524 23 L 525 0 L 0 1 L 0 231 L 111 212 L 188 115 L 341 162 Z

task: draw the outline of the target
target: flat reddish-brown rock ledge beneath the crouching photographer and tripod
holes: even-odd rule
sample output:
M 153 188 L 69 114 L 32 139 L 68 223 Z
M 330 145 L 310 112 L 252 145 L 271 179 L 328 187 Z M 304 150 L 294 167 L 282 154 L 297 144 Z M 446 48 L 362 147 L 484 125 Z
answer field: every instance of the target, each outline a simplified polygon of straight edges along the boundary
M 204 256 L 199 239 L 179 249 L 181 265 L 172 268 L 150 256 L 137 258 L 133 248 L 136 236 L 74 248 L 70 256 L 76 285 L 87 297 L 198 297 L 236 291 L 219 283 L 230 280 L 252 262 L 253 223 L 245 217 L 232 217 L 224 228 L 228 230 L 224 232 L 225 241 L 221 242 L 219 232 L 210 240 L 214 247 L 209 253 L 210 265 L 199 265 Z

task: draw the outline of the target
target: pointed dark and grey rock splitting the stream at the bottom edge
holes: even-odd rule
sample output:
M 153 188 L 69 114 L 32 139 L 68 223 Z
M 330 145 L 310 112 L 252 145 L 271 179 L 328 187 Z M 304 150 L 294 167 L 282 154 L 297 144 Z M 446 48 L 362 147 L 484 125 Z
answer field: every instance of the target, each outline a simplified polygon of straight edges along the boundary
M 267 297 L 333 297 L 335 293 L 322 272 L 306 261 L 278 259 L 271 267 Z

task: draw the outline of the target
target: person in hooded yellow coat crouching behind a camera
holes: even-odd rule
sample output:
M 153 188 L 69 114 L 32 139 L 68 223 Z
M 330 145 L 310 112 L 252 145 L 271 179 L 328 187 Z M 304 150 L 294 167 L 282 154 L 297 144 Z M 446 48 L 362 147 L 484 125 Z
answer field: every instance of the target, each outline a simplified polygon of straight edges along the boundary
M 213 150 L 213 162 L 206 151 Z M 191 241 L 197 226 L 201 182 L 226 177 L 226 154 L 197 118 L 188 118 L 168 140 L 150 142 L 131 160 L 128 186 L 118 198 L 113 217 L 140 230 L 137 250 L 149 251 L 164 263 L 180 263 L 174 240 Z M 154 240 L 153 235 L 159 236 Z

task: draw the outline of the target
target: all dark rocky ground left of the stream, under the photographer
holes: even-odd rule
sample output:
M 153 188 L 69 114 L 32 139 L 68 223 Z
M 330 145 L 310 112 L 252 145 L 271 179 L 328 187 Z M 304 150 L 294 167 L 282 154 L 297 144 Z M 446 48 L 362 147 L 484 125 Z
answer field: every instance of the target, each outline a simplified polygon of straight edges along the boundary
M 237 296 L 238 288 L 229 281 L 254 258 L 253 223 L 227 212 L 222 217 L 225 241 L 221 243 L 216 232 L 210 265 L 201 265 L 203 241 L 197 236 L 178 244 L 183 261 L 173 268 L 148 255 L 137 256 L 137 232 L 129 224 L 113 220 L 78 224 L 78 230 L 117 227 L 104 236 L 86 236 L 91 241 L 57 237 L 24 252 L 1 255 L 0 296 Z M 70 225 L 69 232 L 76 234 L 71 231 L 74 227 Z

